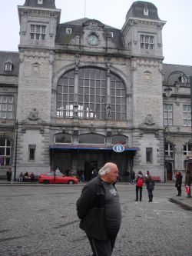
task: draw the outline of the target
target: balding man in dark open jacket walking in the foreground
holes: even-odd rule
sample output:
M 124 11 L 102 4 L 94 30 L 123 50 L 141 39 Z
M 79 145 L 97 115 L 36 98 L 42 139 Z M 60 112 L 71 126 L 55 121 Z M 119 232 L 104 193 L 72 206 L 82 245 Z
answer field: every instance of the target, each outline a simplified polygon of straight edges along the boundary
M 118 167 L 106 163 L 84 186 L 77 201 L 80 228 L 88 235 L 94 256 L 111 256 L 121 225 L 121 206 L 114 184 Z

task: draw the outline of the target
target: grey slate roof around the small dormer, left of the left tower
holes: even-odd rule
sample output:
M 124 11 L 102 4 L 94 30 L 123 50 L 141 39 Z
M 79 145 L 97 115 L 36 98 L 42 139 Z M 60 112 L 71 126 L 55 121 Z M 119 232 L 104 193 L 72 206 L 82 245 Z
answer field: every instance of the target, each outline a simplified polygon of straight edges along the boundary
M 5 62 L 12 62 L 12 71 L 5 71 Z M 0 52 L 0 75 L 18 75 L 18 52 Z

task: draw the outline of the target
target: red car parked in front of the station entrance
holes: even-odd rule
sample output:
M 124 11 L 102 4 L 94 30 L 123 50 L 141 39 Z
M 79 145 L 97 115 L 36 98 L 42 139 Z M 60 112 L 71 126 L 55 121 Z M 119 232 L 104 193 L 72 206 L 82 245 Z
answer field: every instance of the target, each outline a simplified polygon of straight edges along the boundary
M 75 177 L 65 176 L 61 172 L 50 171 L 39 175 L 38 182 L 43 184 L 77 184 L 78 179 Z

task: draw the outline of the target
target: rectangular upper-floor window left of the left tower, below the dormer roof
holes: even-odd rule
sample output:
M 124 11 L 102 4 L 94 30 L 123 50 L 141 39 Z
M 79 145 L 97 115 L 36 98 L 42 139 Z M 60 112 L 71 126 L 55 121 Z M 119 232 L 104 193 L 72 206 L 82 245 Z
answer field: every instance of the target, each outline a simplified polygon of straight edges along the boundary
M 0 119 L 11 119 L 13 115 L 13 96 L 0 95 Z

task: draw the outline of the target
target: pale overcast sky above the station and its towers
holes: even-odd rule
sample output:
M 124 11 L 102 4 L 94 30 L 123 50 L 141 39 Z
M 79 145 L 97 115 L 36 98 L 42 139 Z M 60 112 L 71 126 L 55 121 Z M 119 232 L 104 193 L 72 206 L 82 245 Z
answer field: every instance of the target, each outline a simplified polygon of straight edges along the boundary
M 85 5 L 86 2 L 86 5 Z M 95 18 L 100 22 L 121 29 L 131 0 L 55 0 L 61 9 L 60 23 L 78 18 Z M 167 23 L 163 28 L 164 63 L 192 65 L 192 1 L 151 0 L 161 20 Z M 25 0 L 0 1 L 0 51 L 18 52 L 19 22 L 17 5 Z

